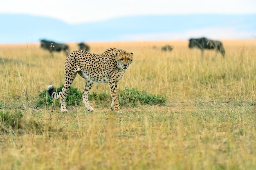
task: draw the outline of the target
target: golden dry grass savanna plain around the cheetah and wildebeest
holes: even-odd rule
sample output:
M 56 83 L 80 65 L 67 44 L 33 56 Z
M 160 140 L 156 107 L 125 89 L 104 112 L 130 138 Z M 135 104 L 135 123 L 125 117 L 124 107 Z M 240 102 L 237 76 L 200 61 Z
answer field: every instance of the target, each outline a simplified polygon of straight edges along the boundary
M 225 59 L 189 49 L 187 41 L 88 42 L 91 53 L 109 47 L 134 52 L 118 84 L 163 96 L 163 104 L 121 105 L 107 95 L 60 113 L 57 100 L 38 104 L 47 85 L 64 81 L 64 53 L 40 44 L 0 45 L 1 170 L 255 170 L 256 40 L 223 40 Z M 71 51 L 78 48 L 70 43 Z M 171 45 L 173 51 L 161 51 Z M 83 91 L 77 76 L 73 87 Z

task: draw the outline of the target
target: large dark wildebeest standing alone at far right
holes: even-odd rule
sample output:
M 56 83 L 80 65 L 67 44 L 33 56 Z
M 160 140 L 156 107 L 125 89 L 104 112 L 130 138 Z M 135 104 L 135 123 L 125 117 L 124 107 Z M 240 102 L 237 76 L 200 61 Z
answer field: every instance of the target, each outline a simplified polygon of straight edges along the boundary
M 212 49 L 222 54 L 222 57 L 225 58 L 225 49 L 220 41 L 209 40 L 207 38 L 191 38 L 189 39 L 189 48 L 198 48 L 202 51 L 201 57 L 204 56 L 204 49 Z M 216 57 L 215 55 L 215 57 Z

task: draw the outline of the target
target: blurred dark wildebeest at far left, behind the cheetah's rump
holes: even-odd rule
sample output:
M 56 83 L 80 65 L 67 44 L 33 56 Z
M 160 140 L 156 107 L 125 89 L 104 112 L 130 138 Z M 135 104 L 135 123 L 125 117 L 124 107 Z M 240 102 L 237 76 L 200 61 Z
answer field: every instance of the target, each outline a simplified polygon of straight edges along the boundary
M 51 55 L 53 55 L 54 51 L 64 51 L 66 55 L 69 53 L 69 46 L 66 44 L 60 44 L 53 41 L 40 40 L 41 48 L 49 50 Z

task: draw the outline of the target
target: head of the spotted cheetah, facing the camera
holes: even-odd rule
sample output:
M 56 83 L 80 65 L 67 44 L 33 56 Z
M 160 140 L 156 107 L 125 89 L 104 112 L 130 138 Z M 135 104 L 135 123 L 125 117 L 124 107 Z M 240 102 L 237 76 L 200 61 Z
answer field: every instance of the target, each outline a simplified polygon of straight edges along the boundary
M 115 52 L 115 55 L 117 57 L 118 66 L 125 71 L 132 63 L 133 52 L 128 53 L 125 50 L 118 50 Z

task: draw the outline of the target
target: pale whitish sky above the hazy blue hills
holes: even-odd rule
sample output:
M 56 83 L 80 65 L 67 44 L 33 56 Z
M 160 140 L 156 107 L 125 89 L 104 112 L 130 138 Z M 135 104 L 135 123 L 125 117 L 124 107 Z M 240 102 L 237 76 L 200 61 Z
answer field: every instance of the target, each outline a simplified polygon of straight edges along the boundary
M 153 14 L 252 14 L 256 0 L 4 0 L 0 13 L 48 16 L 67 23 Z

